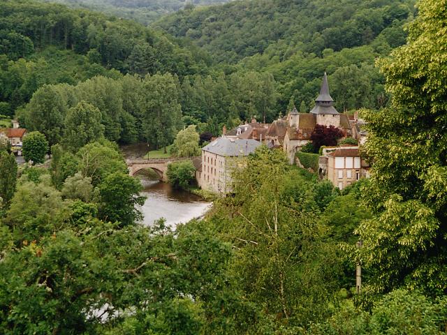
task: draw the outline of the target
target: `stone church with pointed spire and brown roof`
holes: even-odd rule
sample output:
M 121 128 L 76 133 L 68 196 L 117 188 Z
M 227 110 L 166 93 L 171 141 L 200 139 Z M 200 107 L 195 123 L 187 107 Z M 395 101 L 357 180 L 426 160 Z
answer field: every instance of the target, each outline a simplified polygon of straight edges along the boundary
M 329 94 L 328 76 L 325 73 L 320 94 L 316 98 L 315 107 L 310 113 L 299 113 L 296 108 L 288 113 L 283 148 L 290 163 L 293 163 L 296 151 L 311 142 L 310 137 L 317 124 L 335 126 L 343 132 L 345 137 L 351 136 L 351 124 L 347 115 L 337 112 L 333 102 Z

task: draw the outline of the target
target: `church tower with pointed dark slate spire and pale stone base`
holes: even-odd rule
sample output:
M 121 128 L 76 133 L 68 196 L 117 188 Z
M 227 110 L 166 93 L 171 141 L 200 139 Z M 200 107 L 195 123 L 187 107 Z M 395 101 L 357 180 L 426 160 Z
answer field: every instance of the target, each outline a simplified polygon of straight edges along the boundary
M 328 75 L 324 73 L 320 94 L 315 100 L 315 107 L 310 111 L 316 114 L 316 123 L 323 126 L 340 126 L 340 114 L 333 106 L 334 100 L 329 94 Z

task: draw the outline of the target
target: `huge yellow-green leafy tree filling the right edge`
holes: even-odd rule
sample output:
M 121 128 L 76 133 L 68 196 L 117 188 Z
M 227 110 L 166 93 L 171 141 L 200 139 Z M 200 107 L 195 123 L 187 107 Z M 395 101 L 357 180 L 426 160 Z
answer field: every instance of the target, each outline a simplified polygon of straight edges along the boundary
M 447 292 L 445 6 L 420 1 L 408 43 L 380 61 L 393 106 L 367 113 L 365 190 L 373 218 L 358 232 L 372 290 L 401 285 Z M 386 121 L 384 121 L 386 120 Z

